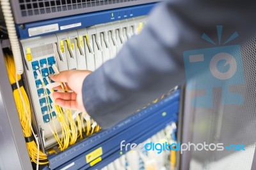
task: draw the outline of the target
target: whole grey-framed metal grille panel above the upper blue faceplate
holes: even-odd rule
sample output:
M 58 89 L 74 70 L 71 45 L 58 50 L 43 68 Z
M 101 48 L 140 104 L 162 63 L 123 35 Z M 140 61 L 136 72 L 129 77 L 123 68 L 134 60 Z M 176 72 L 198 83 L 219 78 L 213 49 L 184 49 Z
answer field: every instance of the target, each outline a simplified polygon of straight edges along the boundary
M 15 22 L 23 24 L 79 13 L 108 10 L 157 0 L 13 0 Z

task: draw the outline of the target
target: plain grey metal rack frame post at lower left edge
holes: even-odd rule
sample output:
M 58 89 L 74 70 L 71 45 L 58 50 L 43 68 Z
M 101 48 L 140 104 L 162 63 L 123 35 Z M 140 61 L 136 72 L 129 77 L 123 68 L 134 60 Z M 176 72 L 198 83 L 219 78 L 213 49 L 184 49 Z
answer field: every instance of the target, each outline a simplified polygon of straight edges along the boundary
M 19 113 L 16 110 L 4 64 L 3 48 L 8 47 L 10 47 L 8 40 L 0 42 L 0 169 L 32 170 Z

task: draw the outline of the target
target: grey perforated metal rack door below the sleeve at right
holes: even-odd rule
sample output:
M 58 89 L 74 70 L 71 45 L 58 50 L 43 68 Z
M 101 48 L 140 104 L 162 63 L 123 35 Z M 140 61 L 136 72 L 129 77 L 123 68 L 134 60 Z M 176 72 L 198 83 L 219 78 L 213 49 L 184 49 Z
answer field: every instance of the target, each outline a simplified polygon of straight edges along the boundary
M 244 145 L 245 150 L 185 152 L 183 169 L 256 169 L 256 36 L 241 45 L 244 77 L 242 85 L 233 85 L 229 92 L 243 96 L 243 104 L 221 103 L 221 88 L 213 90 L 212 108 L 195 108 L 191 100 L 200 92 L 186 90 L 186 141 L 193 143 L 223 143 L 225 146 Z M 202 83 L 202 82 L 201 82 Z M 201 93 L 202 95 L 202 93 Z M 236 100 L 236 99 L 234 99 Z M 185 123 L 184 122 L 184 123 Z

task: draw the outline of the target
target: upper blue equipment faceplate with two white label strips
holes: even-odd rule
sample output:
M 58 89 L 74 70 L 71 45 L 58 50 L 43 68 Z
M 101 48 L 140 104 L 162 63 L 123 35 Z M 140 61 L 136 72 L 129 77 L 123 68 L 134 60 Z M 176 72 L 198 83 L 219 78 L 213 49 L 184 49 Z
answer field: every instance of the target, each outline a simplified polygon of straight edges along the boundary
M 116 20 L 124 20 L 133 17 L 140 17 L 142 15 L 148 15 L 154 6 L 156 6 L 156 3 L 142 4 L 138 6 L 117 8 L 114 10 L 97 11 L 93 13 L 84 13 L 81 15 L 72 15 L 70 17 L 54 18 L 51 20 L 21 24 L 16 25 L 16 27 L 20 39 L 33 38 L 36 36 L 54 34 L 56 32 L 90 27 L 96 24 L 104 24 Z M 54 27 L 49 25 L 54 25 Z M 43 27 L 49 27 L 49 31 L 42 31 Z M 31 29 L 38 29 L 42 32 L 38 32 L 38 34 L 35 36 L 29 35 L 29 29 L 30 31 Z

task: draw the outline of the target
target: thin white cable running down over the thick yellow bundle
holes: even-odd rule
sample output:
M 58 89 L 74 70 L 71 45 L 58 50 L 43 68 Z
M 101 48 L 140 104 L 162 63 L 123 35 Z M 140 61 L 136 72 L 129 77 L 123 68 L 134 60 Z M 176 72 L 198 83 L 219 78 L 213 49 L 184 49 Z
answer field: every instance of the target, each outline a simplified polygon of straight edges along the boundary
M 37 145 L 36 170 L 38 170 L 39 169 L 39 166 L 38 166 L 39 165 L 38 164 L 39 163 L 39 143 L 38 143 L 38 138 L 36 137 L 35 132 L 33 131 L 33 127 L 32 127 L 31 121 L 29 120 L 28 110 L 26 108 L 26 104 L 25 104 L 25 101 L 24 101 L 24 97 L 22 96 L 22 92 L 20 90 L 20 85 L 19 85 L 19 80 L 18 80 L 18 74 L 17 73 L 15 73 L 15 80 L 16 80 L 17 89 L 18 89 L 19 94 L 20 94 L 20 99 L 21 99 L 23 107 L 25 109 L 26 116 L 28 117 L 28 122 L 29 122 L 29 125 L 31 127 L 31 131 L 32 131 L 33 136 L 34 136 L 34 138 L 36 140 L 36 145 Z

